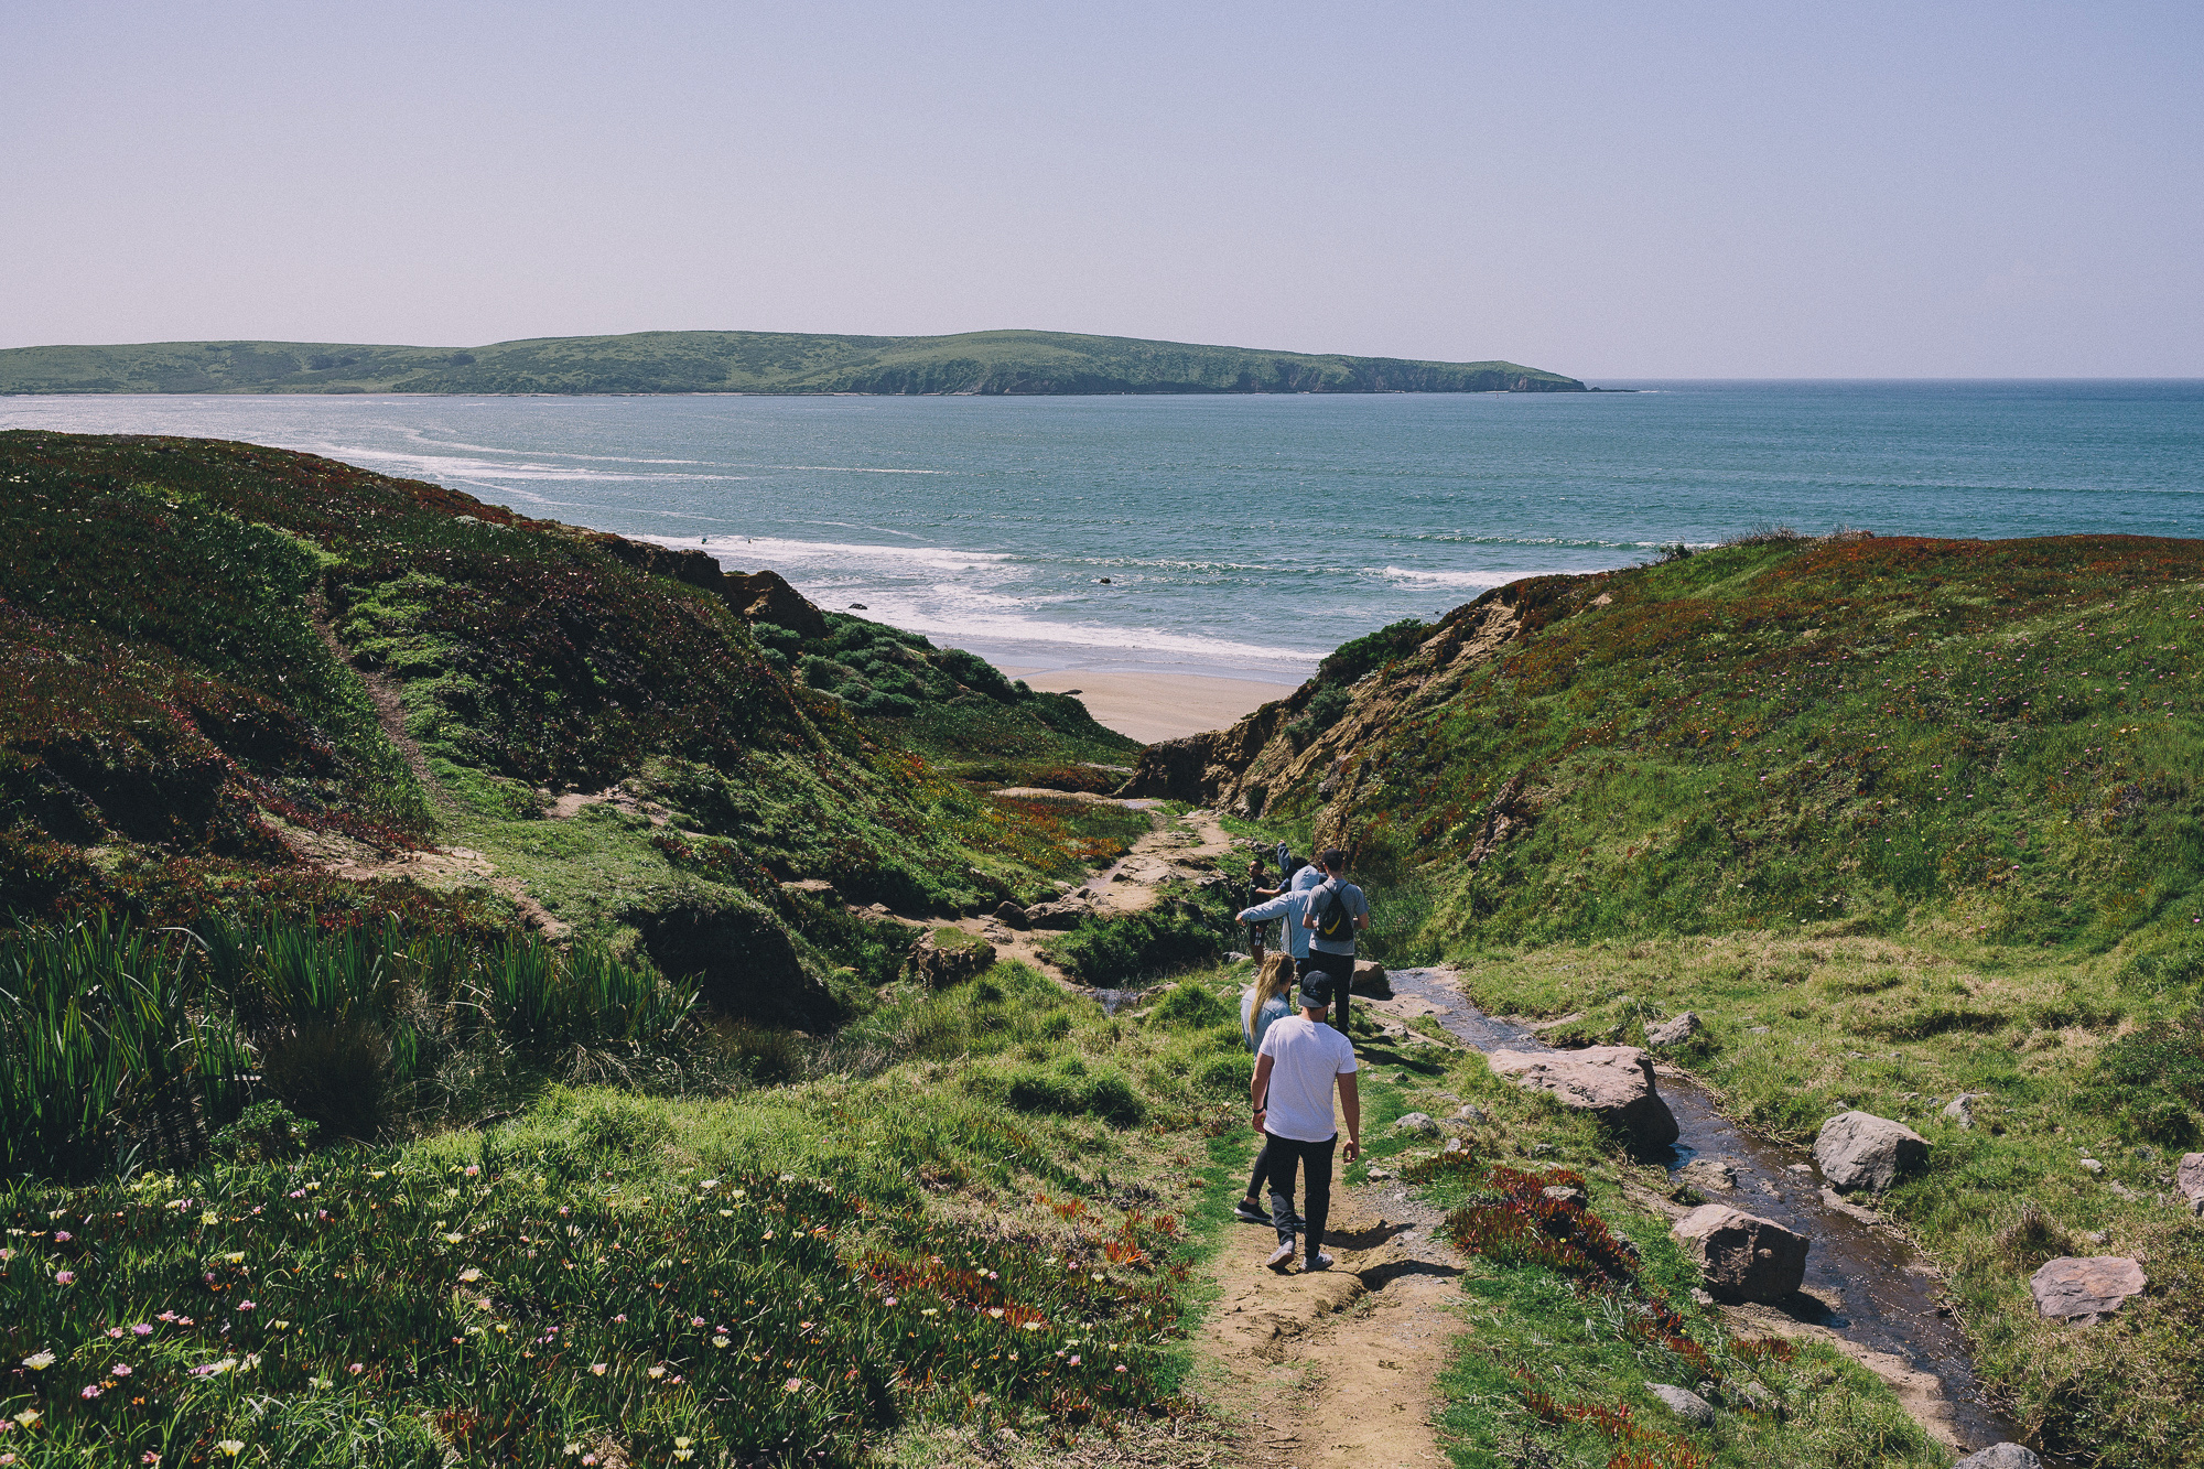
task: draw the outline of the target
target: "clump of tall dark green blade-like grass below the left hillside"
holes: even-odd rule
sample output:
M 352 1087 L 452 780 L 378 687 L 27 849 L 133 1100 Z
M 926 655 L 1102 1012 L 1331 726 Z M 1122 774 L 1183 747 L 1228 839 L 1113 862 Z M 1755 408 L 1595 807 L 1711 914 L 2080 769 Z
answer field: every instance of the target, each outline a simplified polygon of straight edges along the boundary
M 253 1101 L 375 1138 L 540 1076 L 628 1079 L 694 1039 L 694 1008 L 648 966 L 533 937 L 26 929 L 0 937 L 0 1171 L 181 1165 Z

